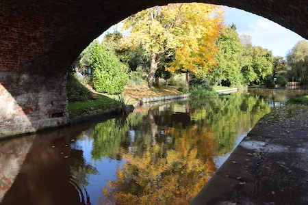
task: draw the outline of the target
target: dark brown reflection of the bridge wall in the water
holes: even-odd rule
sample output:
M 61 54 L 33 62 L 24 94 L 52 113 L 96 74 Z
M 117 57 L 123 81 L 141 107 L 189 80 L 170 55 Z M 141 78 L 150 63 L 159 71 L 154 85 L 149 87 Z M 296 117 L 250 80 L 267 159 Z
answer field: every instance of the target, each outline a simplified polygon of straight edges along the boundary
M 78 184 L 70 176 L 70 157 L 74 155 L 69 146 L 71 137 L 67 129 L 59 129 L 1 141 L 1 156 L 10 157 L 11 168 L 22 161 L 1 204 L 86 204 L 86 197 L 80 197 Z M 14 150 L 17 154 L 12 153 Z M 8 167 L 5 163 L 8 161 L 1 159 L 1 180 L 3 167 Z

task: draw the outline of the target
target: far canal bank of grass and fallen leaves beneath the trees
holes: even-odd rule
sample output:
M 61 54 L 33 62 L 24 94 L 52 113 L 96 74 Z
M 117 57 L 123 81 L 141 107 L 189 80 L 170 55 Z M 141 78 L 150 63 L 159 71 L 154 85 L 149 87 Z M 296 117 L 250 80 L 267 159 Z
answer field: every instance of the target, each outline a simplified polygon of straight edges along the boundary
M 180 87 L 181 88 L 181 87 Z M 230 87 L 216 85 L 213 90 L 228 90 Z M 70 119 L 81 118 L 86 115 L 112 111 L 125 108 L 127 104 L 133 104 L 142 98 L 169 96 L 183 94 L 183 89 L 175 86 L 163 86 L 150 88 L 147 85 L 131 85 L 125 87 L 123 94 L 108 95 L 99 94 L 86 85 L 85 82 L 70 76 L 68 81 L 68 112 Z M 219 94 L 215 91 L 205 90 L 201 85 L 191 87 L 191 98 L 214 98 Z M 77 101 L 77 102 L 74 102 Z

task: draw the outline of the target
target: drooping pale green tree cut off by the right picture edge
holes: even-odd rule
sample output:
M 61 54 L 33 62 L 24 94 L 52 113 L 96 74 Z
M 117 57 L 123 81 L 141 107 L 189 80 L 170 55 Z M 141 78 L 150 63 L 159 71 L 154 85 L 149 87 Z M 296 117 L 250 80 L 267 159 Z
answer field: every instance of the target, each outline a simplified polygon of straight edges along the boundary
M 290 80 L 308 83 L 308 41 L 300 40 L 287 54 L 287 66 L 290 68 Z

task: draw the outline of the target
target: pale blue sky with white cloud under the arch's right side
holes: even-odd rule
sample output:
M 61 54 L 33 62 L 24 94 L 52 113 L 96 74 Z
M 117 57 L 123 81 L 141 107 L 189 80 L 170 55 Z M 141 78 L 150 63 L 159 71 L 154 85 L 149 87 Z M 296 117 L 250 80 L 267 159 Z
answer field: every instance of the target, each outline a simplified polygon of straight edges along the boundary
M 239 36 L 242 34 L 251 36 L 254 46 L 268 49 L 274 56 L 285 57 L 298 41 L 304 39 L 297 33 L 262 16 L 227 6 L 224 8 L 227 9 L 224 13 L 224 21 L 227 25 L 235 23 Z

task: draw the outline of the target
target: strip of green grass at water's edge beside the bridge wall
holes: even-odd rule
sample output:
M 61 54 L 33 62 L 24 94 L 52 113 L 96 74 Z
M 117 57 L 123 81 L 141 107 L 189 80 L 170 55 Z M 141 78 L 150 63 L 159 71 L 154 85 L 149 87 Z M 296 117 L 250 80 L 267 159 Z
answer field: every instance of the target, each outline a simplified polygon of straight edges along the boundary
M 95 100 L 88 100 L 85 102 L 69 102 L 68 112 L 70 118 L 78 118 L 82 115 L 89 115 L 107 109 L 115 109 L 118 105 L 118 96 L 112 98 L 111 96 L 100 95 Z

